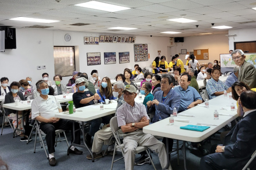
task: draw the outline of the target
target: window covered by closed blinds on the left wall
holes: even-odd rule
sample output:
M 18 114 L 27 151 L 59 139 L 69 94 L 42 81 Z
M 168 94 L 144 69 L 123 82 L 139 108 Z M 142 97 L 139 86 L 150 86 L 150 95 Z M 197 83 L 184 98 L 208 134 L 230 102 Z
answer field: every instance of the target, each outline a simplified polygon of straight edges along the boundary
M 75 50 L 74 47 L 54 46 L 54 69 L 55 74 L 72 76 L 75 71 Z

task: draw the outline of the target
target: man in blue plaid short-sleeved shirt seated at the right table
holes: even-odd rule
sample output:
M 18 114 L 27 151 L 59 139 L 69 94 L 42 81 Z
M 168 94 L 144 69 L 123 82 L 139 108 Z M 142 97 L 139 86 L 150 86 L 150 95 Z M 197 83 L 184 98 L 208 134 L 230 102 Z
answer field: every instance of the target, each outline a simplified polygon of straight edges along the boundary
M 208 92 L 209 99 L 213 99 L 224 94 L 225 90 L 227 93 L 231 92 L 231 87 L 227 87 L 223 81 L 219 80 L 220 69 L 212 69 L 211 75 L 212 78 L 206 83 L 206 90 Z

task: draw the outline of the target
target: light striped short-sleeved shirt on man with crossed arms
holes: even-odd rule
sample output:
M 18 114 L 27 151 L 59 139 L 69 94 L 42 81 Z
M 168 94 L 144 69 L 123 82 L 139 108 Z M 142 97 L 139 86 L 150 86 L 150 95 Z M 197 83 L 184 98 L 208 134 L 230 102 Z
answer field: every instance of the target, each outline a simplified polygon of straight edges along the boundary
M 143 116 L 149 119 L 146 107 L 142 103 L 134 102 L 134 106 L 132 107 L 125 102 L 117 109 L 118 127 L 126 125 L 127 123 L 137 123 Z

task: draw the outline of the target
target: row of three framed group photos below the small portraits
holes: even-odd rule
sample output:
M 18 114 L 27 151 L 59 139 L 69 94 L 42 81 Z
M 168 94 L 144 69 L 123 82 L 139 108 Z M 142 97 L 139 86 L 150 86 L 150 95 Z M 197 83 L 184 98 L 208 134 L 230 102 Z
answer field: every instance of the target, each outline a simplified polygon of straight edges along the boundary
M 119 63 L 129 63 L 130 52 L 119 52 Z M 104 52 L 104 64 L 117 63 L 116 52 Z M 100 65 L 101 53 L 100 52 L 87 52 L 87 66 Z

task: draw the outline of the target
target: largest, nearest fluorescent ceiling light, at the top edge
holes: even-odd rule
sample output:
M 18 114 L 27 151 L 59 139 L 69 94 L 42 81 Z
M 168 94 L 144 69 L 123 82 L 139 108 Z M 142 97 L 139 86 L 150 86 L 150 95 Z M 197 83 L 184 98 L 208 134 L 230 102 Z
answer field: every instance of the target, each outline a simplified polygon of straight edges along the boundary
M 125 9 L 131 9 L 124 6 L 112 5 L 112 4 L 107 4 L 103 2 L 97 2 L 97 1 L 89 1 L 81 4 L 76 4 L 75 6 L 81 6 L 85 8 L 91 8 L 91 9 L 97 9 L 97 10 L 109 11 L 109 12 L 116 12 L 116 11 L 122 11 Z

